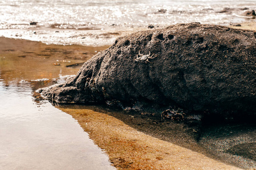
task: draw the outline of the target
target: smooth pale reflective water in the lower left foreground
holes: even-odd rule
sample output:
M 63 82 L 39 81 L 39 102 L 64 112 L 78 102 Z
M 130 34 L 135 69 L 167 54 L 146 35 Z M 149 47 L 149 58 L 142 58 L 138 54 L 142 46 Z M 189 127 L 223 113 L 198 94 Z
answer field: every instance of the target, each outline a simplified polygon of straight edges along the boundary
M 32 93 L 0 78 L 0 169 L 115 169 L 72 116 Z

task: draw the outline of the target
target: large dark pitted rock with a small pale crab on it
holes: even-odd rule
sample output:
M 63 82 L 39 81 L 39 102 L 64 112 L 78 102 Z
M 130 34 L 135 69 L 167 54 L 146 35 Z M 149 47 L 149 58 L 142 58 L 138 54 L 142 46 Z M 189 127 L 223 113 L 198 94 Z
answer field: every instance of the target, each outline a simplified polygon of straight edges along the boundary
M 135 61 L 139 51 L 157 57 Z M 118 100 L 255 115 L 255 59 L 255 31 L 176 24 L 120 37 L 75 77 L 40 92 L 57 103 Z

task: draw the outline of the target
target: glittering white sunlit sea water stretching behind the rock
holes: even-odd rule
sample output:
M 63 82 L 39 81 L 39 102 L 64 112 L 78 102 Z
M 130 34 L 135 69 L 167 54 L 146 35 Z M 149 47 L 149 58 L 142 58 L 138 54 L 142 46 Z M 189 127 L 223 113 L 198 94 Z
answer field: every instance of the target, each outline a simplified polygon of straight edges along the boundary
M 118 36 L 176 23 L 250 19 L 255 0 L 2 0 L 0 36 L 53 44 L 111 45 Z M 36 25 L 30 23 L 35 22 Z

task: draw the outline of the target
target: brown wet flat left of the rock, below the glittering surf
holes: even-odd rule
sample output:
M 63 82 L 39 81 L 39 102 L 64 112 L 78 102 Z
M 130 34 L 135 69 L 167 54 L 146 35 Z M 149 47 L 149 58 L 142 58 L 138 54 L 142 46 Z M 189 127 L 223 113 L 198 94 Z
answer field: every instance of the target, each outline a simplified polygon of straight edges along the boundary
M 17 77 L 34 80 L 76 74 L 79 67 L 66 66 L 81 65 L 106 48 L 108 46 L 47 45 L 0 37 L 1 78 L 8 82 Z

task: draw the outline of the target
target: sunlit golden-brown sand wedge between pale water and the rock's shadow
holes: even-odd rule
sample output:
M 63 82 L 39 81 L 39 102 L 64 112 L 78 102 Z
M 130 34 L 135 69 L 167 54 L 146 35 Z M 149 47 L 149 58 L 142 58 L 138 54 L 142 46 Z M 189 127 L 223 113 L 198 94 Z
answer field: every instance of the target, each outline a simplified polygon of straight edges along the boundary
M 101 111 L 80 107 L 59 109 L 79 122 L 118 169 L 239 169 L 146 135 Z

